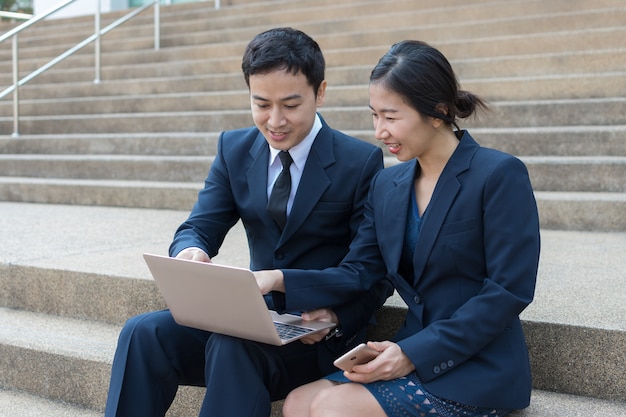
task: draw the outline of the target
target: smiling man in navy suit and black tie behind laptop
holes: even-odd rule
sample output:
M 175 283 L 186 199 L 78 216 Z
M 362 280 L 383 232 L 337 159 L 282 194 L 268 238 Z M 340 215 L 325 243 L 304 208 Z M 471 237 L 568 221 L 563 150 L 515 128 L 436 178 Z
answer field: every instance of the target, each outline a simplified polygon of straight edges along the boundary
M 211 262 L 241 220 L 253 270 L 339 264 L 361 222 L 370 179 L 382 168 L 382 152 L 332 130 L 317 114 L 324 68 L 319 46 L 300 31 L 272 29 L 250 42 L 242 69 L 256 127 L 221 134 L 205 187 L 170 256 Z M 286 183 L 278 178 L 280 151 L 292 160 Z M 270 213 L 275 182 L 287 184 L 282 219 Z M 390 293 L 384 283 L 333 310 L 320 300 L 303 317 L 339 326 L 282 347 L 180 326 L 168 310 L 133 317 L 120 334 L 105 416 L 163 416 L 179 385 L 207 387 L 201 416 L 268 416 L 271 401 L 333 371 L 332 361 L 364 340 Z M 288 296 L 267 295 L 268 307 L 283 310 Z

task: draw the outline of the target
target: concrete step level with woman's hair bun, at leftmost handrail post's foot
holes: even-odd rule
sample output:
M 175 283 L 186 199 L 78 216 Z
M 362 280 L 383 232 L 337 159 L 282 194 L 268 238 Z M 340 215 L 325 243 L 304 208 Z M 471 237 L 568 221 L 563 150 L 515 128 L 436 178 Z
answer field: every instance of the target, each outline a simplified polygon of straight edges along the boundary
M 365 90 L 365 93 L 367 91 Z M 367 103 L 363 101 L 362 103 Z M 339 130 L 368 130 L 371 116 L 365 105 L 324 106 L 320 113 Z M 490 111 L 461 126 L 469 128 L 606 126 L 626 124 L 626 97 L 494 101 Z M 22 116 L 19 132 L 23 134 L 60 133 L 140 133 L 140 132 L 216 132 L 248 126 L 250 110 L 197 110 L 143 113 L 107 113 L 55 116 Z M 0 117 L 0 132 L 13 132 L 13 117 Z

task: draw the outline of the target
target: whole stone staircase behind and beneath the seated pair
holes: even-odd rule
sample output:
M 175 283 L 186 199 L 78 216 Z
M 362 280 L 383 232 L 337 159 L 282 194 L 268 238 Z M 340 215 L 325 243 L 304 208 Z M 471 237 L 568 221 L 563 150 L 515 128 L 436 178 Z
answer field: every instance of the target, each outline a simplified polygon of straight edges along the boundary
M 536 389 L 515 415 L 626 415 L 623 0 L 212 6 L 162 7 L 159 51 L 151 13 L 107 34 L 100 84 L 87 47 L 22 87 L 17 138 L 10 97 L 0 100 L 0 417 L 101 415 L 121 324 L 163 307 L 141 254 L 167 251 L 219 132 L 252 123 L 241 55 L 274 26 L 318 40 L 329 82 L 321 113 L 363 140 L 375 142 L 369 71 L 402 39 L 441 49 L 462 87 L 490 102 L 467 126 L 527 164 L 542 225 L 536 300 L 522 317 Z M 92 20 L 31 28 L 20 70 L 89 36 Z M 0 90 L 11 84 L 10 51 L 0 44 Z M 220 262 L 245 266 L 245 245 L 238 226 Z M 373 337 L 403 311 L 392 297 Z M 201 394 L 184 387 L 169 415 L 195 415 Z

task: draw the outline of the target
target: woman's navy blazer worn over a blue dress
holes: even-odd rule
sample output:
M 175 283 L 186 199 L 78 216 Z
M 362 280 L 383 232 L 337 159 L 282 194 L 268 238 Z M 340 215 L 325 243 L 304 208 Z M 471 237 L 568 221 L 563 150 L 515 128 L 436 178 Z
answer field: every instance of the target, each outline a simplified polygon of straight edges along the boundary
M 287 308 L 334 302 L 382 270 L 409 307 L 394 340 L 433 394 L 504 409 L 529 404 L 519 314 L 534 296 L 539 219 L 524 164 L 465 132 L 422 217 L 412 273 L 400 270 L 416 160 L 381 171 L 341 267 L 283 271 Z M 312 283 L 315 283 L 314 285 Z

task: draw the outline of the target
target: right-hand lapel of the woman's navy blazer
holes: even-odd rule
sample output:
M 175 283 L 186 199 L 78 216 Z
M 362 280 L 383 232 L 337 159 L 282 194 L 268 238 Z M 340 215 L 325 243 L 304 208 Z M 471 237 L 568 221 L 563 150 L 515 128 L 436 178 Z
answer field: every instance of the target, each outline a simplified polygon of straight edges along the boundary
M 469 169 L 471 159 L 477 149 L 478 144 L 468 133 L 464 133 L 459 146 L 450 157 L 437 181 L 427 212 L 422 218 L 422 227 L 413 255 L 414 285 L 422 276 L 426 260 L 430 256 L 443 221 L 461 189 L 458 176 Z

